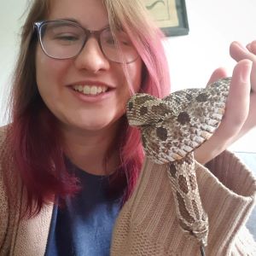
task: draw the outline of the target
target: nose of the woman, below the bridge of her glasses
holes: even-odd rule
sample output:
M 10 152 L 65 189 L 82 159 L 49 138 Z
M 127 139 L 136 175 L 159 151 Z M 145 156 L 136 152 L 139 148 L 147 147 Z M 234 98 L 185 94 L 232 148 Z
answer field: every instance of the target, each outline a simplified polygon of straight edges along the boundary
M 96 38 L 89 38 L 84 48 L 75 59 L 75 66 L 79 69 L 85 69 L 92 73 L 108 70 L 109 61 L 102 53 L 102 49 Z

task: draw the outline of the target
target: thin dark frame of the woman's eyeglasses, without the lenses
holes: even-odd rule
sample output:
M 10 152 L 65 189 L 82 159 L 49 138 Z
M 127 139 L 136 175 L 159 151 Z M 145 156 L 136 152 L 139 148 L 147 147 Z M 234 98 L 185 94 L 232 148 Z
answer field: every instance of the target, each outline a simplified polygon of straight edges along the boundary
M 52 22 L 60 22 L 60 23 L 71 24 L 71 25 L 74 25 L 74 26 L 79 26 L 80 28 L 83 29 L 84 35 L 85 35 L 85 37 L 84 37 L 84 43 L 83 43 L 81 49 L 79 50 L 78 54 L 73 55 L 72 57 L 68 57 L 68 58 L 56 58 L 56 57 L 54 57 L 54 56 L 49 55 L 49 54 L 46 52 L 46 50 L 44 49 L 44 44 L 43 44 L 43 42 L 42 42 L 42 33 L 41 33 L 41 29 L 42 29 L 42 26 L 44 26 L 44 24 L 52 23 Z M 89 30 L 89 29 L 85 28 L 84 26 L 80 25 L 78 22 L 75 22 L 75 21 L 72 21 L 72 20 L 41 20 L 41 21 L 36 21 L 36 22 L 33 23 L 33 29 L 36 30 L 37 33 L 38 33 L 39 43 L 40 43 L 41 48 L 42 48 L 43 51 L 44 51 L 44 54 L 47 55 L 47 56 L 49 56 L 49 57 L 52 58 L 52 59 L 55 59 L 55 60 L 68 60 L 68 59 L 74 59 L 74 58 L 76 58 L 76 57 L 83 51 L 84 46 L 85 46 L 85 44 L 87 43 L 87 41 L 89 40 L 89 38 L 90 38 L 91 36 L 94 36 L 94 38 L 96 38 L 96 41 L 97 41 L 97 43 L 98 43 L 98 45 L 99 45 L 99 47 L 100 47 L 100 49 L 101 49 L 101 51 L 102 51 L 102 54 L 108 59 L 108 61 L 113 61 L 113 60 L 111 60 L 111 59 L 104 53 L 104 51 L 103 51 L 103 49 L 102 49 L 101 39 L 100 39 L 100 36 L 101 36 L 102 32 L 103 32 L 104 30 L 110 29 L 110 26 L 105 26 L 105 27 L 103 27 L 101 30 Z M 134 61 L 137 61 L 137 58 L 138 58 L 138 57 L 139 57 L 139 55 L 137 55 L 137 57 L 135 58 L 135 60 L 133 60 L 133 61 L 128 61 L 128 62 L 120 62 L 120 61 L 113 61 L 113 62 L 119 63 L 119 64 L 124 64 L 124 63 L 125 63 L 125 64 L 130 64 L 130 63 L 132 63 L 132 62 L 134 62 Z

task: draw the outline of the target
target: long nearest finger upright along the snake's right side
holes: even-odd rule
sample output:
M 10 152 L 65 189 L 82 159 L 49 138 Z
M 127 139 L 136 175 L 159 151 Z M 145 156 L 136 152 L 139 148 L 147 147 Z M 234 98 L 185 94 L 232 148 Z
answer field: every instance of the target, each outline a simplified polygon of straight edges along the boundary
M 252 61 L 239 61 L 234 68 L 224 118 L 215 133 L 195 150 L 195 159 L 205 164 L 227 148 L 241 131 L 248 115 Z

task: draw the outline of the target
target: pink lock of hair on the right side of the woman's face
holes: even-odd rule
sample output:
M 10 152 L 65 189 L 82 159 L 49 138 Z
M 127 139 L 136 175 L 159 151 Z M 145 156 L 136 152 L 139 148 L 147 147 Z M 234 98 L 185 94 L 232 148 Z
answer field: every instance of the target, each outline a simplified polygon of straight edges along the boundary
M 127 2 L 119 1 L 119 4 L 120 3 L 124 3 L 123 9 L 125 9 L 125 4 Z M 144 23 L 142 22 L 138 26 L 136 24 L 137 20 L 134 20 L 129 16 L 129 12 L 122 12 L 119 14 L 118 11 L 115 12 L 115 4 L 113 6 L 112 1 L 110 1 L 110 5 L 108 4 L 108 12 L 111 12 L 111 17 L 114 18 L 118 15 L 117 20 L 122 24 L 122 29 L 127 32 L 132 44 L 137 49 L 138 55 L 140 55 L 143 60 L 143 81 L 140 92 L 148 93 L 160 98 L 166 96 L 169 94 L 171 87 L 169 67 L 162 44 L 162 40 L 165 38 L 164 34 L 151 20 Z M 146 16 L 143 18 L 147 20 Z M 118 29 L 115 21 L 112 19 L 110 19 L 110 26 L 112 26 L 113 32 Z M 127 65 L 129 64 L 124 66 L 126 76 L 129 75 L 126 72 Z M 127 81 L 129 84 L 129 77 L 127 77 Z M 130 88 L 134 93 L 131 83 Z M 140 131 L 129 125 L 127 125 L 126 129 L 121 131 L 123 131 L 122 136 L 125 137 L 125 143 L 123 144 L 123 147 L 121 147 L 120 158 L 122 160 L 123 168 L 125 168 L 125 176 L 127 179 L 127 189 L 124 196 L 124 201 L 126 201 L 130 197 L 137 182 L 138 174 L 142 168 L 144 155 Z M 119 183 L 118 180 L 116 182 Z

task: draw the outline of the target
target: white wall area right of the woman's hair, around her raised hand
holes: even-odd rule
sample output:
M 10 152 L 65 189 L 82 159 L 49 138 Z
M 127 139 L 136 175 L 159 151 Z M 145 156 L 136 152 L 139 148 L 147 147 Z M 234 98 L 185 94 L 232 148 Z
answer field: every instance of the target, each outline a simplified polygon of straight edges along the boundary
M 217 67 L 231 75 L 236 62 L 229 55 L 230 43 L 256 39 L 256 0 L 186 0 L 186 5 L 189 36 L 170 38 L 167 46 L 172 90 L 204 87 Z M 253 129 L 230 149 L 256 152 L 255 142 Z

